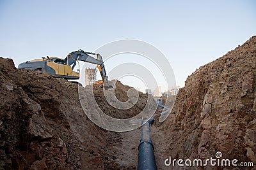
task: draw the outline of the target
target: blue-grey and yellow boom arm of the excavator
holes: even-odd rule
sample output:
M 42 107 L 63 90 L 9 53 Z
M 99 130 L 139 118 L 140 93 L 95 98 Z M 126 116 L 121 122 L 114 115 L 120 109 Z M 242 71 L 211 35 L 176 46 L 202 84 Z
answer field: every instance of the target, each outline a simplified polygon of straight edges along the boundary
M 90 55 L 97 55 L 97 59 L 93 58 Z M 99 53 L 92 53 L 92 52 L 84 52 L 83 50 L 78 50 L 75 52 L 71 52 L 67 55 L 67 57 L 64 59 L 64 64 L 67 64 L 68 66 L 72 66 L 72 69 L 76 66 L 76 61 L 83 61 L 83 62 L 89 62 L 92 64 L 97 64 L 97 67 L 100 71 L 100 76 L 103 81 L 108 81 L 108 76 L 106 74 L 106 69 L 104 66 L 103 59 Z

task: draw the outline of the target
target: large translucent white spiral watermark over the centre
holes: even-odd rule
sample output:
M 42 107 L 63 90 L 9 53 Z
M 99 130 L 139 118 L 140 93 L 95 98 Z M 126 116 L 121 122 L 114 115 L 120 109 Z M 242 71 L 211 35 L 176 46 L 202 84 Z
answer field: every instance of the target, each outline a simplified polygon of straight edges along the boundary
M 112 67 L 111 70 L 106 70 L 109 79 L 120 80 L 125 76 L 132 76 L 138 78 L 142 81 L 147 87 L 147 89 L 156 88 L 161 85 L 157 82 L 157 78 L 163 77 L 165 81 L 165 85 L 168 89 L 171 89 L 176 85 L 175 76 L 173 73 L 172 66 L 170 62 L 164 54 L 158 50 L 155 46 L 150 45 L 144 41 L 139 41 L 135 39 L 123 39 L 118 41 L 113 41 L 111 43 L 107 43 L 106 45 L 101 46 L 95 53 L 100 53 L 102 56 L 104 63 L 115 63 L 116 57 L 120 55 L 127 55 L 129 58 L 130 55 L 136 55 L 137 58 L 141 58 L 143 60 L 147 60 L 152 65 L 156 66 L 159 69 L 161 74 L 154 75 L 154 70 L 152 70 L 152 65 L 148 66 L 147 64 L 143 64 L 141 62 L 136 62 L 130 60 L 129 62 L 122 60 L 121 63 L 116 64 L 115 67 Z M 118 58 L 121 59 L 121 58 Z M 81 73 L 84 73 L 85 66 L 81 70 Z M 112 81 L 113 82 L 113 81 Z M 151 88 L 148 88 L 151 87 Z M 153 89 L 152 89 L 153 90 Z M 106 114 L 106 109 L 100 109 L 99 104 L 95 100 L 95 94 L 93 93 L 93 86 L 86 86 L 85 90 L 83 87 L 78 87 L 79 99 L 81 106 L 84 110 L 84 113 L 90 120 L 102 127 L 103 129 L 115 132 L 124 132 L 131 131 L 141 126 L 137 120 L 148 120 L 151 118 L 157 110 L 157 104 L 152 98 L 152 96 L 148 95 L 147 103 L 143 110 L 138 113 L 135 117 L 120 119 L 113 118 Z M 116 110 L 129 110 L 132 108 L 139 100 L 139 93 L 135 89 L 130 89 L 127 91 L 128 101 L 122 102 L 117 99 L 115 96 L 115 89 L 103 89 L 104 98 Z M 168 102 L 168 98 L 166 103 Z M 175 99 L 174 99 L 175 100 Z M 170 112 L 172 111 L 172 107 L 166 106 L 166 108 L 170 108 L 169 113 L 163 115 L 161 118 L 161 122 L 166 120 Z M 140 122 L 140 121 L 139 121 Z M 147 122 L 147 121 L 145 121 Z

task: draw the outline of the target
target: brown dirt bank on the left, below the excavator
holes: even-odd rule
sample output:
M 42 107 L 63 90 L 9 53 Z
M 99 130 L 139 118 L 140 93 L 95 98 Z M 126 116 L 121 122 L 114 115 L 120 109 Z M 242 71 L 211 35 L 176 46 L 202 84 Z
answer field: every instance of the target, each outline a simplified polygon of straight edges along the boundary
M 0 58 L 0 169 L 126 169 L 116 162 L 121 136 L 94 125 L 79 103 L 77 85 L 48 74 L 17 70 Z M 132 117 L 95 99 L 113 117 Z M 116 83 L 116 96 L 127 100 L 127 86 Z M 99 94 L 98 92 L 99 91 Z M 125 96 L 126 95 L 126 96 Z M 146 97 L 140 94 L 135 110 Z M 135 166 L 135 165 L 131 165 Z

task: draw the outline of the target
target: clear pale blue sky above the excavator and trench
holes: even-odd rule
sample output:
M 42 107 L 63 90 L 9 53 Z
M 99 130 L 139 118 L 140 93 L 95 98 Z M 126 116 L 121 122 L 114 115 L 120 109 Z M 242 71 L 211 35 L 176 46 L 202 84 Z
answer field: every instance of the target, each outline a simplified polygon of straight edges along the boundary
M 46 55 L 63 58 L 80 48 L 93 52 L 118 39 L 140 39 L 166 55 L 182 87 L 196 68 L 256 34 L 255 9 L 256 1 L 0 0 L 0 56 L 17 66 Z

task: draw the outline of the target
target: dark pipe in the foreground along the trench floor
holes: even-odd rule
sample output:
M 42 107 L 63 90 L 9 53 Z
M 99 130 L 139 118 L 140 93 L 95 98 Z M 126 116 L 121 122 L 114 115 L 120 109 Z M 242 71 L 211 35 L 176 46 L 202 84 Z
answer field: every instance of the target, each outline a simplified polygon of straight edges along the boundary
M 150 125 L 154 124 L 154 121 L 154 118 L 150 118 L 147 123 L 141 127 L 141 139 L 138 147 L 138 170 L 157 169 L 154 146 L 150 138 Z

